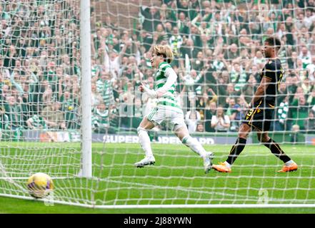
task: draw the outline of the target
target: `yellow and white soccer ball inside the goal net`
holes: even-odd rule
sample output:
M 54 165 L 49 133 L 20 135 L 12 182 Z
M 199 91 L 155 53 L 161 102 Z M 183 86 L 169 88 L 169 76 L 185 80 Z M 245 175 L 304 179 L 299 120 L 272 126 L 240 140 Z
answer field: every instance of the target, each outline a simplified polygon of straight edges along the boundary
M 44 198 L 54 190 L 54 182 L 46 173 L 37 172 L 29 177 L 27 189 L 32 197 L 36 199 Z

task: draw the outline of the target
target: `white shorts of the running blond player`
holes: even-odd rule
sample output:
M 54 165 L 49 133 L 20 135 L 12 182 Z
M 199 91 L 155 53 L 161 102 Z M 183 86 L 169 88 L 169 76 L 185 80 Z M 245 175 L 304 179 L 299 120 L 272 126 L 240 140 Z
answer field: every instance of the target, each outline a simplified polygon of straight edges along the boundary
M 171 130 L 174 130 L 175 125 L 186 126 L 184 113 L 180 109 L 172 110 L 158 105 L 146 115 L 146 118 L 154 125 L 161 125 L 165 121 Z

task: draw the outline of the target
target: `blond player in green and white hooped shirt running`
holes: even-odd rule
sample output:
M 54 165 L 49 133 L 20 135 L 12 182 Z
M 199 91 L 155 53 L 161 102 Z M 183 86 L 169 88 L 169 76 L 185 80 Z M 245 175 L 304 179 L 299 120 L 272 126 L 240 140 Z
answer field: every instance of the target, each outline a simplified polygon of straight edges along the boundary
M 211 170 L 212 152 L 206 152 L 200 142 L 189 135 L 184 121 L 184 113 L 174 97 L 177 75 L 169 65 L 173 58 L 170 46 L 158 45 L 152 47 L 151 65 L 157 69 L 155 75 L 156 90 L 146 88 L 143 84 L 139 86 L 139 90 L 148 93 L 151 98 L 157 98 L 157 105 L 143 118 L 139 128 L 137 128 L 139 142 L 142 149 L 146 152 L 146 156 L 134 165 L 136 167 L 154 165 L 155 158 L 147 130 L 154 128 L 155 125 L 160 125 L 163 121 L 169 121 L 171 130 L 173 130 L 179 140 L 202 157 L 204 160 L 204 171 L 207 173 Z

